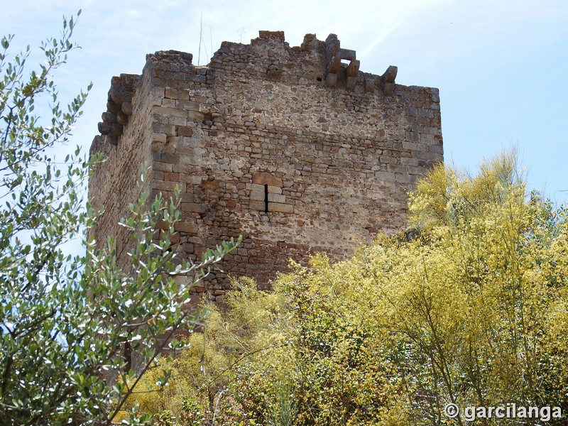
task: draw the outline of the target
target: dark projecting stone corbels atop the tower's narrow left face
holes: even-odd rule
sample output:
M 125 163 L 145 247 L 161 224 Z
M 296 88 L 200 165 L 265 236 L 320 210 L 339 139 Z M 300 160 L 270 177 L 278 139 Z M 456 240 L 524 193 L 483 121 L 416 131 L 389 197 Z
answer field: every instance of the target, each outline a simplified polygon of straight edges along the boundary
M 107 141 L 112 145 L 118 144 L 119 136 L 132 115 L 132 95 L 138 77 L 134 74 L 112 77 L 107 111 L 102 113 L 102 122 L 99 123 L 99 132 L 106 136 Z

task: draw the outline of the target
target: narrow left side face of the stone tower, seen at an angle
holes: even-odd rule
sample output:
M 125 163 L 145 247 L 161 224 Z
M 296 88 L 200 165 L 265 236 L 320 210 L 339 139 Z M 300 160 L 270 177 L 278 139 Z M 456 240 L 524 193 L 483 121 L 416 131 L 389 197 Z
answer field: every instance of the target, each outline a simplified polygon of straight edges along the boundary
M 106 134 L 95 136 L 90 150 L 100 162 L 94 164 L 89 178 L 89 202 L 95 209 L 104 209 L 92 236 L 100 244 L 108 236 L 115 239 L 121 266 L 129 264 L 126 252 L 131 235 L 119 222 L 128 216 L 129 203 L 140 195 L 141 165 L 152 165 L 151 109 L 161 103 L 161 97 L 153 96 L 150 80 L 146 74 L 113 77 L 108 110 L 99 123 L 99 131 Z

